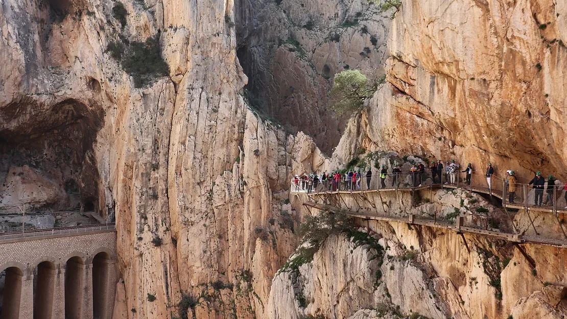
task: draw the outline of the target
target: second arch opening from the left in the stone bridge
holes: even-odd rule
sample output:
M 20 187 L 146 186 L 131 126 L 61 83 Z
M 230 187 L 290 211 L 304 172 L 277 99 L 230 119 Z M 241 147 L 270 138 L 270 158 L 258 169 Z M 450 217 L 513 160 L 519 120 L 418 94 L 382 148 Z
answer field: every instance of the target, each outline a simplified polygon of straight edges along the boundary
M 52 318 L 55 272 L 51 261 L 42 261 L 33 270 L 33 319 Z

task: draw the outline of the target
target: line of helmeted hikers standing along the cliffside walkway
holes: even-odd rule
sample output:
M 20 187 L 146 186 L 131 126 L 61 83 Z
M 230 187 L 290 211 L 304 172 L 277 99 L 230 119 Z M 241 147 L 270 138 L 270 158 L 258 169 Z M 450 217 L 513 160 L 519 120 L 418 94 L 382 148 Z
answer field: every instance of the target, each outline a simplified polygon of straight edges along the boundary
M 445 165 L 441 159 L 438 159 L 437 162 L 431 162 L 429 166 L 429 170 L 431 172 L 431 179 L 433 180 L 433 184 L 442 184 L 443 177 L 445 180 L 445 184 L 457 184 L 458 183 L 458 173 L 460 171 L 460 167 L 458 163 L 455 163 L 454 160 L 451 162 L 446 161 Z M 471 185 L 471 177 L 473 174 L 472 164 L 468 163 L 467 167 L 461 173 L 466 173 L 465 183 L 467 185 Z M 408 173 L 403 173 L 400 169 L 400 166 L 397 163 L 393 166 L 392 172 L 388 173 L 388 169 L 386 165 L 380 166 L 380 186 L 379 188 L 387 188 L 386 185 L 386 178 L 388 175 L 391 175 L 391 185 L 392 188 L 397 188 L 400 186 L 401 179 L 408 174 L 411 177 L 411 187 L 421 187 L 424 183 L 424 175 L 425 175 L 425 165 L 423 163 L 413 164 L 411 169 Z M 304 173 L 303 175 L 295 175 L 293 179 L 293 183 L 295 184 L 295 191 L 307 191 L 308 193 L 311 192 L 318 192 L 318 191 L 355 191 L 361 190 L 363 186 L 362 181 L 366 181 L 366 190 L 371 189 L 371 181 L 372 181 L 372 170 L 370 167 L 366 169 L 366 173 L 363 172 L 361 169 L 359 170 L 348 170 L 344 173 L 341 173 L 338 170 L 332 171 L 331 173 L 327 174 L 327 172 L 323 172 L 323 174 L 307 174 Z M 494 167 L 492 163 L 488 163 L 486 166 L 486 184 L 488 184 L 489 192 L 492 191 L 492 179 L 494 176 Z M 516 199 L 516 192 L 518 190 L 518 179 L 515 175 L 513 170 L 507 170 L 506 175 L 504 178 L 507 186 L 507 192 L 509 196 L 509 203 L 514 204 Z M 547 187 L 545 187 L 547 184 Z M 541 176 L 541 173 L 538 171 L 535 173 L 535 177 L 528 183 L 528 185 L 532 185 L 534 188 L 534 205 L 541 206 L 543 205 L 553 205 L 553 200 L 557 199 L 557 194 L 560 194 L 561 188 L 556 186 L 556 179 L 549 175 L 547 182 L 545 178 Z M 543 199 L 544 190 L 546 193 L 545 200 Z M 567 184 L 562 187 L 562 190 L 565 190 L 565 202 L 567 203 Z M 567 209 L 567 207 L 565 207 Z

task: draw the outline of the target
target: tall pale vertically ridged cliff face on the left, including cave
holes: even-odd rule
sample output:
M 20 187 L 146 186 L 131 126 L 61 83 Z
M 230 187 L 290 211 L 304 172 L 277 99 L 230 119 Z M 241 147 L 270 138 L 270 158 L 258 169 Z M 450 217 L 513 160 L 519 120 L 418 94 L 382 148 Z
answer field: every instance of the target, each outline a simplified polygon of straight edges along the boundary
M 293 250 L 290 174 L 324 158 L 311 138 L 244 102 L 232 9 L 55 0 L 1 8 L 2 204 L 88 204 L 115 216 L 117 318 L 263 317 L 271 278 Z M 137 88 L 109 44 L 150 37 L 169 73 Z

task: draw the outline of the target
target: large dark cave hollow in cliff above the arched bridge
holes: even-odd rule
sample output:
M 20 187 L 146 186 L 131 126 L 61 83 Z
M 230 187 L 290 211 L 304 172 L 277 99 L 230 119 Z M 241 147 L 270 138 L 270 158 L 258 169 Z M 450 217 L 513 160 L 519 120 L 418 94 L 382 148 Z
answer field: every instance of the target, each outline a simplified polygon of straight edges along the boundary
M 0 214 L 98 207 L 93 144 L 103 111 L 75 99 L 0 110 Z

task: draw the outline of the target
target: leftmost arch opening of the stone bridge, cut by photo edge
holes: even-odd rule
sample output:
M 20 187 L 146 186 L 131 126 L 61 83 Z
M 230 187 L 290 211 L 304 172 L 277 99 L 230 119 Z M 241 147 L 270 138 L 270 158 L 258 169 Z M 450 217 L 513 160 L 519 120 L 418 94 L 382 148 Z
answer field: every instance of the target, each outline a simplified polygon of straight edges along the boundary
M 2 272 L 5 274 L 5 281 L 1 295 L 2 314 L 0 314 L 0 319 L 19 318 L 24 272 L 22 268 L 14 266 L 4 268 Z

